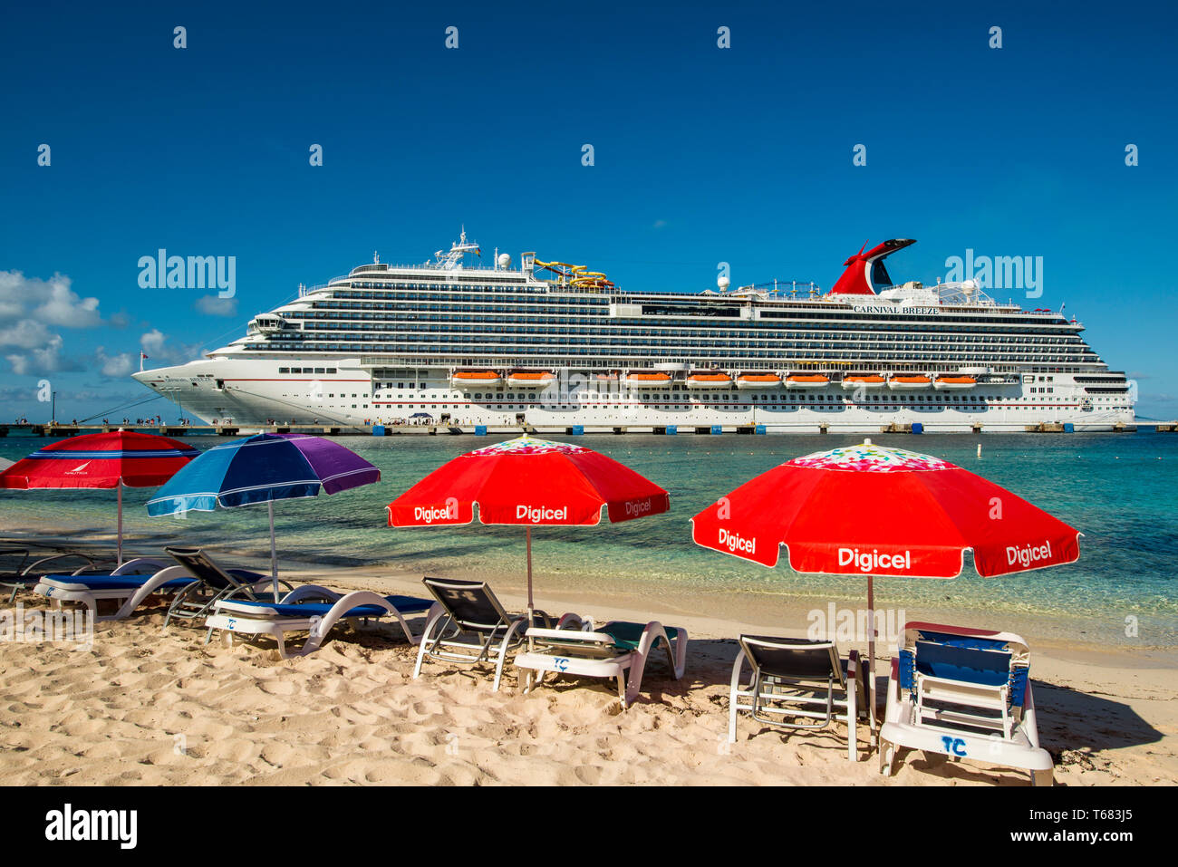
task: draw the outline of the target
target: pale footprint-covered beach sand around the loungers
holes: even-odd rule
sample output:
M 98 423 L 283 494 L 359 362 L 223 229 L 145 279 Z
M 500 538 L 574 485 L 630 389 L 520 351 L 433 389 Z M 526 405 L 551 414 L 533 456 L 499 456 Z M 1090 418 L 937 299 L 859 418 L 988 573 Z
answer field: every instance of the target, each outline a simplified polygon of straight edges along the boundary
M 424 595 L 416 574 L 292 563 L 283 571 L 338 589 Z M 514 588 L 496 590 L 509 609 L 523 608 Z M 21 601 L 41 602 L 27 594 Z M 206 646 L 197 627 L 164 633 L 155 605 L 98 623 L 88 649 L 0 644 L 0 774 L 8 785 L 1028 785 L 1023 772 L 921 753 L 904 753 L 898 773 L 885 779 L 878 753 L 866 753 L 863 728 L 858 763 L 847 759 L 842 726 L 783 735 L 743 716 L 729 744 L 734 638 L 803 635 L 801 615 L 793 623 L 772 613 L 734 618 L 716 600 L 667 608 L 666 600 L 578 598 L 542 584 L 537 604 L 597 622 L 653 617 L 683 627 L 691 635 L 687 673 L 671 680 L 656 658 L 642 695 L 623 712 L 611 687 L 596 680 L 549 677 L 523 694 L 508 667 L 495 693 L 489 668 L 441 663 L 413 680 L 415 648 L 392 627 L 337 627 L 318 653 L 283 661 L 265 638 Z M 958 611 L 948 622 L 979 621 L 984 615 Z M 419 633 L 423 620 L 410 622 Z M 1172 650 L 1024 635 L 1057 785 L 1178 783 Z M 885 649 L 876 655 L 882 688 Z

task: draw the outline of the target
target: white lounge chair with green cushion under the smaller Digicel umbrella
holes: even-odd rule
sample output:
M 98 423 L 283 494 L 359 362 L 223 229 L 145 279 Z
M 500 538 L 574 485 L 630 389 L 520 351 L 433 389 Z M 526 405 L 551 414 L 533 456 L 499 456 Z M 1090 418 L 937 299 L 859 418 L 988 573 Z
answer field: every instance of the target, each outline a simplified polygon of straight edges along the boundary
M 654 650 L 667 651 L 675 680 L 683 676 L 687 666 L 687 630 L 663 627 L 657 621 L 610 621 L 595 628 L 593 621 L 565 615 L 556 629 L 532 627 L 527 637 L 528 651 L 515 658 L 516 668 L 525 671 L 525 693 L 543 682 L 548 671 L 607 677 L 617 681 L 617 699 L 626 709 L 642 689 L 642 674 Z

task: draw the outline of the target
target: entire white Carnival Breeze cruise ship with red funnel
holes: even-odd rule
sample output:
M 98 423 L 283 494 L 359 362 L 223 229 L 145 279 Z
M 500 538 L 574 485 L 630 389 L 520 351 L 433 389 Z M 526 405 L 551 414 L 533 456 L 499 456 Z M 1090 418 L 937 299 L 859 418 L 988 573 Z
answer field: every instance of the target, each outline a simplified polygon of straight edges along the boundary
M 602 271 L 518 265 L 465 231 L 424 264 L 379 256 L 299 287 L 205 357 L 134 378 L 239 426 L 434 423 L 541 432 L 1108 431 L 1134 388 L 1063 312 L 973 282 L 894 283 L 860 250 L 829 291 L 773 282 L 623 291 Z M 866 247 L 866 245 L 865 245 Z

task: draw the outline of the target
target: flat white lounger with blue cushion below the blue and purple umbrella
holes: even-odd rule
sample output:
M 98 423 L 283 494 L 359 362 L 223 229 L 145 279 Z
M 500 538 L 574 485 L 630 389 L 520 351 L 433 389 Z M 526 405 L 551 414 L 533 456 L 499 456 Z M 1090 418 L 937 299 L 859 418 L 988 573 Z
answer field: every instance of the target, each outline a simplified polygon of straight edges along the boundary
M 304 584 L 291 590 L 280 601 L 221 598 L 213 603 L 212 614 L 205 624 L 207 644 L 218 629 L 249 635 L 269 635 L 278 642 L 278 655 L 306 656 L 319 649 L 332 627 L 339 621 L 379 621 L 391 616 L 401 624 L 410 644 L 419 638 L 413 636 L 405 615 L 421 614 L 436 608 L 432 600 L 412 596 L 379 596 L 368 590 L 339 594 L 317 584 Z M 286 651 L 286 633 L 306 633 L 303 647 L 293 654 Z

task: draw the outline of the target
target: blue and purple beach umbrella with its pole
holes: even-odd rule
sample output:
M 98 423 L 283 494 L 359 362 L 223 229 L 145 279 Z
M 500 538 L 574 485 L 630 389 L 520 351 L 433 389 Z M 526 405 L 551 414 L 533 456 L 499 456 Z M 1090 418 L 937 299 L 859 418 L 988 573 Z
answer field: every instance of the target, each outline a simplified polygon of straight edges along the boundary
M 274 501 L 338 494 L 380 481 L 380 470 L 351 449 L 305 434 L 258 434 L 205 451 L 147 501 L 148 515 L 214 511 L 266 503 L 270 571 L 278 594 Z

